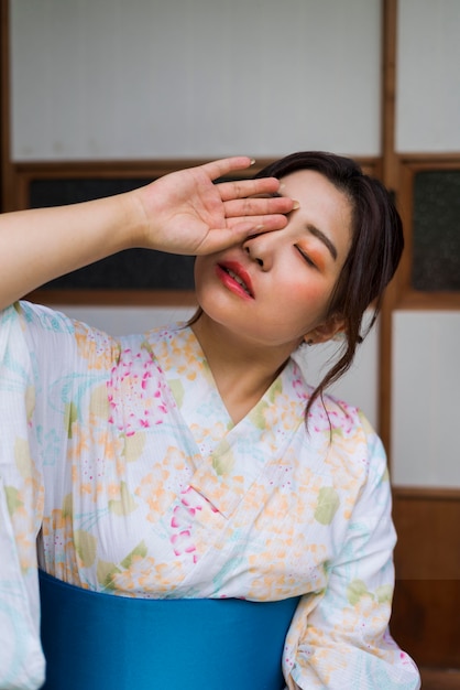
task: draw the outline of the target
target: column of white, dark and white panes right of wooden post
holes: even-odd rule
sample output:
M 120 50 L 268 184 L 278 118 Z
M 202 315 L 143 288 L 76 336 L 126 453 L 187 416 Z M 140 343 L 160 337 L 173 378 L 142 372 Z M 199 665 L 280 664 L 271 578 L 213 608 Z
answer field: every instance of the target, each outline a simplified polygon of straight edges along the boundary
M 409 299 L 393 317 L 393 479 L 460 488 L 460 4 L 398 7 L 396 141 L 410 187 L 410 265 Z

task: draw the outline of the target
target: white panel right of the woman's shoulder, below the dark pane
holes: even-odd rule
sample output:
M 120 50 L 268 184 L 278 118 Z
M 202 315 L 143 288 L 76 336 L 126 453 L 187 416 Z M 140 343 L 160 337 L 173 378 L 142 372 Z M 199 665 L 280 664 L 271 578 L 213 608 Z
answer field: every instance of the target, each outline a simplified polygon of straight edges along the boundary
M 393 326 L 393 483 L 460 488 L 460 313 L 401 311 Z

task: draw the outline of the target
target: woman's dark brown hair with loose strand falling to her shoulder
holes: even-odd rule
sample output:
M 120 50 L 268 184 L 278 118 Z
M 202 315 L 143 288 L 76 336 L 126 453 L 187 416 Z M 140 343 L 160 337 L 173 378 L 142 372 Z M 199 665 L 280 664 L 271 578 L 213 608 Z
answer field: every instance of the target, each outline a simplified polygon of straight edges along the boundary
M 306 417 L 325 388 L 351 366 L 357 346 L 375 323 L 383 292 L 394 276 L 404 248 L 403 227 L 392 196 L 376 179 L 364 174 L 353 160 L 322 151 L 292 153 L 271 163 L 255 177 L 284 177 L 298 170 L 314 170 L 350 201 L 352 209 L 351 246 L 331 294 L 328 316 L 344 322 L 343 347 L 339 359 L 327 371 L 308 401 Z M 362 333 L 366 309 L 373 317 Z

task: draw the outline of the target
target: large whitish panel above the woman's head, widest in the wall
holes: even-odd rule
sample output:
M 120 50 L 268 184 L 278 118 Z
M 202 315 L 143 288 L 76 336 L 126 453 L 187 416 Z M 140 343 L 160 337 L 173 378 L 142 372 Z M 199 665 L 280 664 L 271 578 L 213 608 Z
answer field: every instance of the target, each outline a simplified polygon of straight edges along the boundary
M 13 0 L 12 157 L 380 152 L 381 0 Z

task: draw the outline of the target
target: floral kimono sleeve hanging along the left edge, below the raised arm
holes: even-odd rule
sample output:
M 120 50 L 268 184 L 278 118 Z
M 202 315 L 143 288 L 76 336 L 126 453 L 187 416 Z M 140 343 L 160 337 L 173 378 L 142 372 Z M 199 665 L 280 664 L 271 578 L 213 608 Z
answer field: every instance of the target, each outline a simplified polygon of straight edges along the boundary
M 43 487 L 30 450 L 30 353 L 18 310 L 0 313 L 0 688 L 44 680 L 35 538 Z

